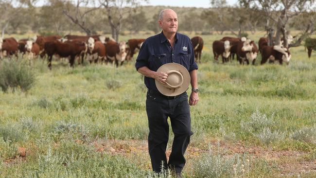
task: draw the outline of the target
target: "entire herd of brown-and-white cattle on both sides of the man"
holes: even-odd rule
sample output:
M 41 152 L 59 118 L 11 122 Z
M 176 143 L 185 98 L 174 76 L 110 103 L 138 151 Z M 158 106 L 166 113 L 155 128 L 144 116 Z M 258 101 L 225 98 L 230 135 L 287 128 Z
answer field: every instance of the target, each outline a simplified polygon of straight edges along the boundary
M 0 38 L 0 58 L 4 56 L 18 55 L 21 53 L 28 59 L 37 56 L 48 58 L 48 67 L 52 69 L 53 56 L 56 58 L 68 58 L 70 66 L 74 66 L 77 59 L 78 64 L 82 64 L 86 59 L 90 63 L 112 63 L 112 65 L 123 65 L 123 62 L 130 61 L 145 39 L 129 39 L 127 42 L 116 42 L 111 37 L 100 35 L 94 36 L 36 36 L 35 39 L 16 40 L 13 37 Z M 195 36 L 191 39 L 196 62 L 201 61 L 201 53 L 203 49 L 203 39 Z M 291 42 L 291 39 L 288 39 Z M 291 53 L 288 48 L 281 45 L 268 46 L 268 40 L 261 37 L 256 43 L 246 37 L 230 37 L 225 36 L 220 40 L 212 43 L 212 49 L 215 61 L 221 56 L 222 62 L 228 62 L 237 58 L 240 64 L 255 64 L 258 53 L 261 53 L 261 64 L 269 61 L 274 63 L 279 61 L 280 64 L 289 63 Z M 308 38 L 305 47 L 308 49 L 308 56 L 311 56 L 312 50 L 316 50 L 316 39 Z

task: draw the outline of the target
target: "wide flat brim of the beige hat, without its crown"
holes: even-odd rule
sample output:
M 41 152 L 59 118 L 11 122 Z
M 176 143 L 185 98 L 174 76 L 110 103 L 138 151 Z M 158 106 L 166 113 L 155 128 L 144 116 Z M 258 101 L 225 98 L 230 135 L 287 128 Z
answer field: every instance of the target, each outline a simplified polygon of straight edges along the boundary
M 158 80 L 155 80 L 156 87 L 157 87 L 158 91 L 161 94 L 166 95 L 166 96 L 176 96 L 176 95 L 183 93 L 184 91 L 186 91 L 189 88 L 189 85 L 191 82 L 191 77 L 190 77 L 189 71 L 184 66 L 182 66 L 181 64 L 178 64 L 178 63 L 164 64 L 164 65 L 160 66 L 157 71 L 166 73 L 167 71 L 171 71 L 171 70 L 179 71 L 182 74 L 183 83 L 179 88 L 168 89 L 168 88 L 166 88 L 166 85 L 160 83 Z

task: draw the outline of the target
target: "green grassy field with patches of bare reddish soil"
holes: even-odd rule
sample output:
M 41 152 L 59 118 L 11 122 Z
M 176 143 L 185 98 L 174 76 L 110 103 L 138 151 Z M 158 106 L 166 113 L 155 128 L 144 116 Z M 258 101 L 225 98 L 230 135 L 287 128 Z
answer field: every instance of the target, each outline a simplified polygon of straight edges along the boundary
M 183 176 L 316 177 L 316 53 L 309 59 L 303 46 L 291 48 L 288 66 L 260 66 L 260 55 L 255 66 L 222 64 L 211 44 L 223 36 L 202 36 L 200 101 L 191 107 Z M 133 37 L 147 36 L 122 36 Z M 52 71 L 38 59 L 33 88 L 0 91 L 0 177 L 155 177 L 135 59 L 119 68 L 53 61 Z M 167 155 L 172 139 L 170 130 Z

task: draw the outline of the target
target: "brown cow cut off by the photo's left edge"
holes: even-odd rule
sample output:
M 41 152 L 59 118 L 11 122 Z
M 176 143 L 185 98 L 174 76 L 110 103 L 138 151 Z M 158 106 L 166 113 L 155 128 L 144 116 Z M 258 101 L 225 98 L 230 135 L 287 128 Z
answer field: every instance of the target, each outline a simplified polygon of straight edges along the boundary
M 13 37 L 2 40 L 0 58 L 9 55 L 18 56 L 18 41 Z

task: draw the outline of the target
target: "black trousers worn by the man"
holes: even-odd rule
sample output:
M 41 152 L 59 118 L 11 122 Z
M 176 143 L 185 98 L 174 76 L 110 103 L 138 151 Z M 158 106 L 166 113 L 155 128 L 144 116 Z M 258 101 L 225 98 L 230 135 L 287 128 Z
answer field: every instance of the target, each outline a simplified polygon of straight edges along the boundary
M 164 169 L 172 168 L 176 173 L 181 173 L 186 162 L 184 153 L 192 135 L 187 93 L 184 92 L 176 98 L 167 98 L 157 91 L 148 90 L 146 111 L 149 125 L 148 148 L 153 171 L 159 173 L 163 162 Z M 168 117 L 175 138 L 167 163 Z

